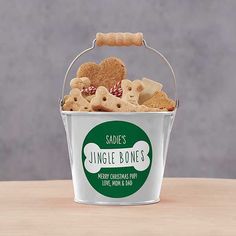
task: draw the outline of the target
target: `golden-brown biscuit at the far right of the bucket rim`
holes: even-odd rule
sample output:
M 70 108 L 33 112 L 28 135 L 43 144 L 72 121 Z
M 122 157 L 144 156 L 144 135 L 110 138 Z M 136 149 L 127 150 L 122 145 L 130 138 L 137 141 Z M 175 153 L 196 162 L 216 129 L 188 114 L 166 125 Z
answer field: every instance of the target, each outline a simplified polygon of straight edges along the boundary
M 150 99 L 145 101 L 143 105 L 150 108 L 166 108 L 168 111 L 173 111 L 175 102 L 168 98 L 167 94 L 163 91 L 156 92 Z

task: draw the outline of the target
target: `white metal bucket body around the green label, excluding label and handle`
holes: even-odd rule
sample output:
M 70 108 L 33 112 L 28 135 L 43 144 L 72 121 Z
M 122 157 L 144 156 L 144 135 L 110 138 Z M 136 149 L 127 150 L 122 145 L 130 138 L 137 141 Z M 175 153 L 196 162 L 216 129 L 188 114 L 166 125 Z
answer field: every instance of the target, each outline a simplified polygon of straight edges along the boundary
M 62 111 L 61 115 L 67 135 L 75 201 L 109 205 L 133 205 L 158 202 L 160 200 L 169 137 L 175 113 L 173 111 L 116 114 L 71 113 Z M 82 150 L 82 147 L 87 134 L 99 124 L 109 121 L 124 121 L 138 126 L 149 137 L 152 148 L 152 162 L 147 179 L 136 192 L 121 198 L 108 197 L 99 193 L 89 182 L 83 167 L 82 152 L 84 150 Z M 110 132 L 109 135 L 116 136 L 117 134 Z M 97 136 L 96 138 L 101 140 L 104 137 Z M 99 183 L 102 185 L 102 181 L 99 181 Z M 107 188 L 113 191 L 112 187 L 107 186 Z

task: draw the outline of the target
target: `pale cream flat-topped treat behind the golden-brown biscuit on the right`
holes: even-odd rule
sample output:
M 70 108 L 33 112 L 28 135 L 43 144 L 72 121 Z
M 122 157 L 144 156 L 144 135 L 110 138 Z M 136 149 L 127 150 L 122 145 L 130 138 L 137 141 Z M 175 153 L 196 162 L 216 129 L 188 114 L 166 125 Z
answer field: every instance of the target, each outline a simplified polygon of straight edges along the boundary
M 143 104 L 146 100 L 151 98 L 155 92 L 159 92 L 162 90 L 163 85 L 156 81 L 143 78 L 142 79 L 144 89 L 139 95 L 139 104 Z

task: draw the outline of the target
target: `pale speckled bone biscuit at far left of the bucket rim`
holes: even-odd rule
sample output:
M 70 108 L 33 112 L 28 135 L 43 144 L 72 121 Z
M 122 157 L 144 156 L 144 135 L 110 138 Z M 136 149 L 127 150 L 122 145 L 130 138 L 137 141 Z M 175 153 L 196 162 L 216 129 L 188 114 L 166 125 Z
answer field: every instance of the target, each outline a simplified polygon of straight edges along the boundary
M 64 98 L 64 111 L 91 111 L 90 103 L 82 96 L 78 88 L 72 89 L 70 95 Z

